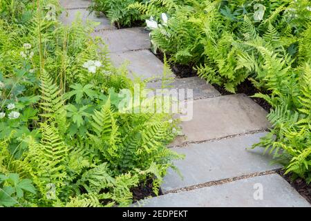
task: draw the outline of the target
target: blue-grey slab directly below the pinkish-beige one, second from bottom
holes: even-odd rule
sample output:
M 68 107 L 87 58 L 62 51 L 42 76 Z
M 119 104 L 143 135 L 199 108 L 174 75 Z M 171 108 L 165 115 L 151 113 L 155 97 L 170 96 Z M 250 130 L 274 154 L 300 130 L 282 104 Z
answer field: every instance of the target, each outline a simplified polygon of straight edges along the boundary
M 243 135 L 214 142 L 189 144 L 173 151 L 185 155 L 185 160 L 175 162 L 182 177 L 169 169 L 162 190 L 171 191 L 206 182 L 241 177 L 279 169 L 282 166 L 271 164 L 272 157 L 263 155 L 263 148 L 251 148 L 266 133 Z

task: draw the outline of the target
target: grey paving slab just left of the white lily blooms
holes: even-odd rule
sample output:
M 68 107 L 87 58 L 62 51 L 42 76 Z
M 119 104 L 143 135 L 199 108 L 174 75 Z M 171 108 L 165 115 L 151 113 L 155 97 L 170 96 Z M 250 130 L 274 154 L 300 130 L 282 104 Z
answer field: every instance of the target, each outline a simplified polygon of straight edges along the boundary
M 149 49 L 149 32 L 144 28 L 124 28 L 95 32 L 93 37 L 102 37 L 111 52 Z

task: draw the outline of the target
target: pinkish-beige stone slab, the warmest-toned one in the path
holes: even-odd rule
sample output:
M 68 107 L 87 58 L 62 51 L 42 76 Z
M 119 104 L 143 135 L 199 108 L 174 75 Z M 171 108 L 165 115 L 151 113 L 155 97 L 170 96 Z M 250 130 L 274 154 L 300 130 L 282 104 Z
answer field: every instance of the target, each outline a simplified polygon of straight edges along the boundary
M 270 126 L 267 112 L 244 94 L 198 99 L 192 104 L 193 117 L 181 123 L 183 135 L 171 146 L 260 131 Z

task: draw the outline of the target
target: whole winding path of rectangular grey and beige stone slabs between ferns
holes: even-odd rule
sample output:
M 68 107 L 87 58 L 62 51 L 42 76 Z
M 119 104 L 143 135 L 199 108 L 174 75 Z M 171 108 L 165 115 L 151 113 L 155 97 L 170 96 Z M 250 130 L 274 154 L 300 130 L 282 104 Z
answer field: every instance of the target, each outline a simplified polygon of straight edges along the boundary
M 144 28 L 116 30 L 108 19 L 88 15 L 88 0 L 61 0 L 61 20 L 70 24 L 77 12 L 82 19 L 100 22 L 94 36 L 106 41 L 115 66 L 130 61 L 131 76 L 149 79 L 161 88 L 162 62 L 150 52 Z M 173 76 L 174 77 L 174 76 Z M 164 195 L 143 200 L 140 206 L 310 206 L 283 177 L 281 168 L 261 148 L 249 150 L 270 126 L 267 113 L 246 95 L 221 96 L 198 77 L 175 78 L 173 88 L 194 90 L 194 117 L 182 122 L 183 135 L 171 144 L 185 155 L 176 162 L 183 177 L 169 170 Z M 138 206 L 138 204 L 135 204 Z

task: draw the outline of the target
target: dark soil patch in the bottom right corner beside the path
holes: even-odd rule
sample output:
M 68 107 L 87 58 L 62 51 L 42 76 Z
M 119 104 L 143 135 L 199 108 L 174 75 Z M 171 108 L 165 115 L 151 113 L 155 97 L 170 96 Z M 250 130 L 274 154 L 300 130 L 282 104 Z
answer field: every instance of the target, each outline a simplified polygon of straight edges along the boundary
M 311 184 L 307 184 L 305 180 L 301 178 L 292 180 L 292 175 L 284 175 L 285 171 L 283 170 L 279 170 L 277 171 L 277 173 L 279 173 L 279 175 L 281 175 L 286 181 L 288 181 L 292 185 L 292 187 L 294 187 L 294 189 L 296 189 L 296 191 L 300 193 L 300 195 L 302 195 L 306 200 L 308 200 L 308 202 L 311 203 Z

